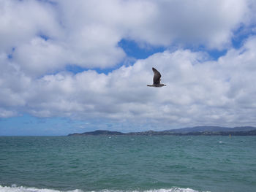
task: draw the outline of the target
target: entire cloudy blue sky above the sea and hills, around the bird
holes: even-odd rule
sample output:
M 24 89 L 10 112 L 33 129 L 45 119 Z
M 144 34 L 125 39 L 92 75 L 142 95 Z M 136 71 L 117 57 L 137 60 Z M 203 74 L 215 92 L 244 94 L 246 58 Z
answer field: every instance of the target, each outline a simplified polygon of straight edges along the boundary
M 255 21 L 253 0 L 0 0 L 0 136 L 256 126 Z

